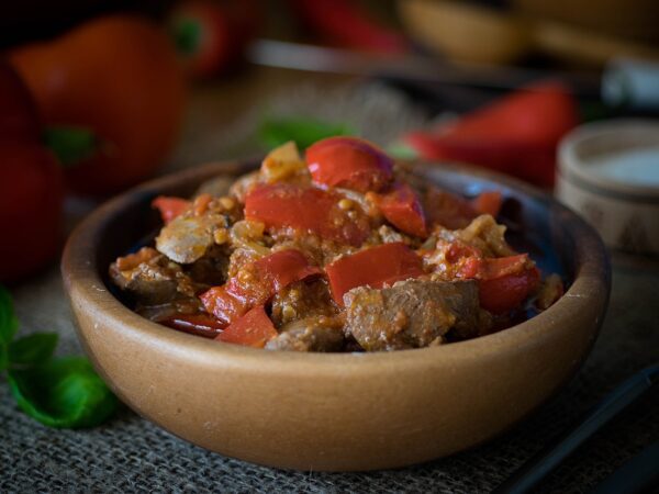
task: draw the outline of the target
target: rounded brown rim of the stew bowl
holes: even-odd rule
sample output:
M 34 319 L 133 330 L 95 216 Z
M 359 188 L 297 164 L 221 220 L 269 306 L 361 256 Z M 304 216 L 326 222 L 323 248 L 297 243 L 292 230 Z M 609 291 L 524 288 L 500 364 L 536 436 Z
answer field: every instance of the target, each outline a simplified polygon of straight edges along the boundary
M 108 327 L 121 327 L 122 332 L 133 333 L 135 337 L 148 338 L 158 346 L 165 345 L 172 357 L 189 358 L 192 352 L 196 360 L 203 364 L 213 366 L 221 362 L 223 367 L 239 368 L 244 372 L 254 373 L 263 372 L 264 366 L 272 372 L 288 374 L 291 369 L 299 369 L 300 366 L 309 369 L 308 366 L 311 364 L 314 367 L 314 372 L 336 374 L 336 372 L 353 371 L 355 368 L 359 368 L 360 372 L 377 372 L 382 364 L 423 367 L 429 360 L 437 359 L 449 362 L 474 358 L 494 359 L 505 348 L 523 349 L 526 346 L 541 344 L 543 340 L 551 337 L 552 327 L 569 324 L 572 314 L 582 311 L 589 303 L 602 304 L 597 319 L 593 322 L 597 328 L 601 326 L 611 290 L 611 269 L 608 255 L 599 234 L 549 194 L 520 180 L 463 164 L 442 164 L 442 167 L 451 172 L 468 173 L 474 178 L 493 181 L 539 200 L 552 211 L 555 210 L 561 221 L 567 222 L 566 228 L 572 235 L 576 235 L 576 232 L 581 234 L 580 240 L 574 243 L 576 273 L 570 288 L 547 311 L 504 330 L 449 345 L 395 351 L 336 353 L 265 351 L 172 330 L 131 311 L 107 289 L 100 277 L 102 267 L 97 266 L 97 250 L 109 220 L 116 212 L 133 205 L 135 197 L 157 193 L 163 188 L 193 180 L 197 177 L 244 171 L 249 169 L 250 165 L 253 164 L 246 161 L 219 161 L 185 169 L 149 180 L 97 207 L 75 228 L 64 249 L 62 273 L 71 303 L 77 301 L 83 311 L 102 318 Z M 431 172 L 437 167 L 436 162 L 433 166 L 428 165 L 416 162 L 412 169 L 415 171 L 427 167 Z M 76 329 L 79 337 L 82 337 L 79 325 L 76 325 Z M 592 330 L 592 328 L 583 330 Z

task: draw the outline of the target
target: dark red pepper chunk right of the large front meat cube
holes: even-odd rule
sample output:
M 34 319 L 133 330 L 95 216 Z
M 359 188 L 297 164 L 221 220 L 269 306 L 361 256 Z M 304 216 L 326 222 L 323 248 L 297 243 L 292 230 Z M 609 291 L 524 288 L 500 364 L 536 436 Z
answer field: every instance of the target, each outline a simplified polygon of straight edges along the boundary
M 516 274 L 505 274 L 490 280 L 479 280 L 480 304 L 493 314 L 501 314 L 520 306 L 536 289 L 540 271 L 533 267 Z

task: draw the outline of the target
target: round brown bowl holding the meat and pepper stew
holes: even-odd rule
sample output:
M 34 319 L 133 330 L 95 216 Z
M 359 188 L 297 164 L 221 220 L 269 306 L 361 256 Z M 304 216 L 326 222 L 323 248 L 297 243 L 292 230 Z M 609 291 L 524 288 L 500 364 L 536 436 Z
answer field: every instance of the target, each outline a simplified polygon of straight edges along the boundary
M 551 308 L 501 333 L 434 348 L 295 353 L 178 333 L 122 304 L 110 290 L 108 266 L 157 226 L 154 195 L 189 195 L 210 177 L 248 168 L 211 165 L 126 192 L 92 213 L 64 252 L 87 353 L 124 403 L 168 431 L 284 469 L 403 467 L 511 427 L 551 396 L 593 345 L 610 291 L 597 234 L 529 187 L 445 166 L 417 172 L 463 193 L 499 189 L 509 198 L 511 240 L 569 283 Z

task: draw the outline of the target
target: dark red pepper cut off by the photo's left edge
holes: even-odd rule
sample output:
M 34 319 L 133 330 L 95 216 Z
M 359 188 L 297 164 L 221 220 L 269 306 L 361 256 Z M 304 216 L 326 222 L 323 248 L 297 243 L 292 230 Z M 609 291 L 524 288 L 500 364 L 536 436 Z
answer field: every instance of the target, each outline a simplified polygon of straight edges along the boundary
M 0 60 L 0 282 L 37 270 L 59 248 L 64 183 L 41 131 L 27 88 Z

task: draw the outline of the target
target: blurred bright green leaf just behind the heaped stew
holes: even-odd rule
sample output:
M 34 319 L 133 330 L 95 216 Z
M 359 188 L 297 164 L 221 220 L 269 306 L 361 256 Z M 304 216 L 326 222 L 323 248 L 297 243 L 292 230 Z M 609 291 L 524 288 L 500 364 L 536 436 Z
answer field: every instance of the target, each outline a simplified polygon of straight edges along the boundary
M 349 125 L 342 123 L 304 117 L 267 117 L 261 122 L 258 134 L 267 147 L 277 147 L 294 141 L 300 149 L 305 149 L 325 137 L 351 135 L 355 132 Z

